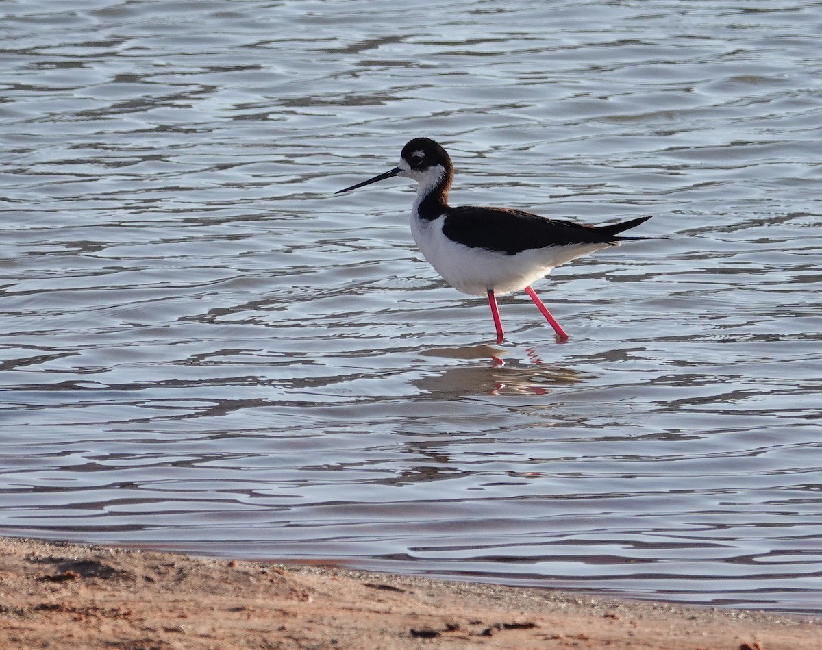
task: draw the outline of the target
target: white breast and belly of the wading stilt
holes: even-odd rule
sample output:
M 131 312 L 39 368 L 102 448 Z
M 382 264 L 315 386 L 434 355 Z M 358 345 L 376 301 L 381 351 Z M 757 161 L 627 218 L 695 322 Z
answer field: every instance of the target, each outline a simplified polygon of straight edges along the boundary
M 414 211 L 416 212 L 416 210 Z M 425 259 L 443 279 L 462 293 L 484 296 L 525 288 L 575 257 L 606 248 L 608 244 L 531 248 L 515 255 L 472 248 L 451 241 L 442 233 L 444 217 L 427 221 L 411 216 L 411 233 Z

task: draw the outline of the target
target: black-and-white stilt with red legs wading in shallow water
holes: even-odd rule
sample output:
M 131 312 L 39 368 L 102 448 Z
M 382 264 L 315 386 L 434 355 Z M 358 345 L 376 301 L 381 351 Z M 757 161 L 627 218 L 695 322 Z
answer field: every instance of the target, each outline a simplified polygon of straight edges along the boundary
M 619 242 L 648 237 L 617 237 L 650 217 L 610 226 L 588 226 L 511 208 L 448 205 L 454 166 L 445 149 L 428 138 L 414 138 L 403 147 L 399 164 L 386 173 L 336 192 L 404 176 L 417 182 L 411 211 L 411 233 L 425 259 L 448 284 L 472 296 L 488 297 L 496 327 L 496 343 L 504 333 L 496 296 L 525 289 L 557 336 L 568 334 L 531 288 L 533 281 L 558 265 Z

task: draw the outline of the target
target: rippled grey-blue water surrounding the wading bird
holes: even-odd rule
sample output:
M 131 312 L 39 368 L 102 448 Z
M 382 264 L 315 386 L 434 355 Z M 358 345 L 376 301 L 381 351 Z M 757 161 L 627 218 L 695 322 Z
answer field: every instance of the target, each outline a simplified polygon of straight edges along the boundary
M 822 612 L 818 2 L 69 4 L 0 7 L 0 532 Z M 492 345 L 332 196 L 421 135 L 667 238 Z

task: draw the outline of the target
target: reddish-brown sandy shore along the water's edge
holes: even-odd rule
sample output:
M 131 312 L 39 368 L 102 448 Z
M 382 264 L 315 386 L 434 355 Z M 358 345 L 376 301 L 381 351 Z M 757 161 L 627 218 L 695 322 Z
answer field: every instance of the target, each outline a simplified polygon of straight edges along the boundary
M 822 648 L 822 619 L 0 537 L 0 648 Z

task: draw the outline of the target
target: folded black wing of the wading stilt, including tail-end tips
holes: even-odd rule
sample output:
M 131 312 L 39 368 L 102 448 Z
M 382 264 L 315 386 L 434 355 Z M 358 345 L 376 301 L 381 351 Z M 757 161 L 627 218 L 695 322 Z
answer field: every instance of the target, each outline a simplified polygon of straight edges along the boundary
M 609 226 L 589 226 L 564 219 L 546 219 L 523 210 L 464 206 L 448 208 L 442 232 L 451 241 L 471 248 L 515 255 L 531 248 L 641 239 L 615 235 L 647 219 L 650 217 Z

